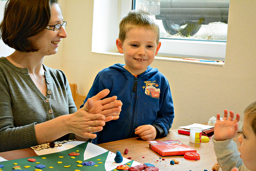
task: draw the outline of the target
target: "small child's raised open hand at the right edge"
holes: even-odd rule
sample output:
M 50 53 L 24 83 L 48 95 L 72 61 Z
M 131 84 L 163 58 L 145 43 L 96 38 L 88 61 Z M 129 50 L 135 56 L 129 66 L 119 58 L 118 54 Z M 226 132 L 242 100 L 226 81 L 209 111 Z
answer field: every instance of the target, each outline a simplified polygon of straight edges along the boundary
M 220 121 L 220 114 L 217 114 L 217 120 L 214 125 L 214 138 L 216 141 L 232 139 L 238 132 L 240 115 L 237 113 L 236 118 L 234 119 L 234 112 L 232 110 L 229 111 L 229 114 L 230 115 L 228 117 L 228 110 L 225 109 L 222 121 Z

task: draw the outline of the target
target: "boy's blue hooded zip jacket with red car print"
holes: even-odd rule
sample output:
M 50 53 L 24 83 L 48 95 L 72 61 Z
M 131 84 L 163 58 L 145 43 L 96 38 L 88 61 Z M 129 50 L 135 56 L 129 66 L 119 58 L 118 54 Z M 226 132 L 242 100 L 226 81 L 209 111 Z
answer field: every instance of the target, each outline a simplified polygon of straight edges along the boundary
M 123 66 L 115 64 L 101 70 L 84 101 L 103 89 L 109 89 L 105 98 L 117 96 L 123 103 L 119 118 L 106 122 L 103 130 L 96 132 L 97 137 L 92 139 L 94 144 L 136 137 L 134 129 L 140 125 L 155 126 L 156 138 L 166 136 L 172 127 L 174 108 L 166 77 L 150 66 L 135 77 Z

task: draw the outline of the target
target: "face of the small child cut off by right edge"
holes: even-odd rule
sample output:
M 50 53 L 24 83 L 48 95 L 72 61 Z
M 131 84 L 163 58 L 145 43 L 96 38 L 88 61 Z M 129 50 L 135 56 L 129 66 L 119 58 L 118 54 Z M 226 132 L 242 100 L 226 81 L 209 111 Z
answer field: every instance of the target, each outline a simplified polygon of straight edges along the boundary
M 238 141 L 241 144 L 239 147 L 240 157 L 245 167 L 256 171 L 256 135 L 247 118 L 244 118 L 243 134 L 238 137 Z

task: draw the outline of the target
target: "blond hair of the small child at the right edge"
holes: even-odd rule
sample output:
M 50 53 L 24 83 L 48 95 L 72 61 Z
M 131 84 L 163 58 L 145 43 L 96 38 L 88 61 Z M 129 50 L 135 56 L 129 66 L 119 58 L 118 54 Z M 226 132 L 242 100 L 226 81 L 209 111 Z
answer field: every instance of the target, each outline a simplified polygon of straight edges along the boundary
M 244 118 L 251 122 L 252 129 L 256 135 L 256 102 L 251 103 L 244 110 Z

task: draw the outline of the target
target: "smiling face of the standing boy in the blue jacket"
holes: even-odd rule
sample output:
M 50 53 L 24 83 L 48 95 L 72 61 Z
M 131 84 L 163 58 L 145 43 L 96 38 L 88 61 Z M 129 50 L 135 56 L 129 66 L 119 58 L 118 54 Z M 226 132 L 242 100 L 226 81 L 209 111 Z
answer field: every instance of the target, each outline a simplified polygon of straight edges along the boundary
M 132 28 L 125 37 L 123 42 L 116 40 L 118 51 L 124 53 L 124 68 L 133 75 L 139 75 L 154 61 L 161 42 L 156 42 L 156 32 L 140 27 Z

